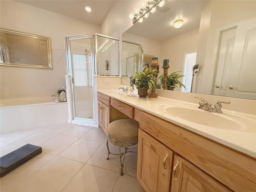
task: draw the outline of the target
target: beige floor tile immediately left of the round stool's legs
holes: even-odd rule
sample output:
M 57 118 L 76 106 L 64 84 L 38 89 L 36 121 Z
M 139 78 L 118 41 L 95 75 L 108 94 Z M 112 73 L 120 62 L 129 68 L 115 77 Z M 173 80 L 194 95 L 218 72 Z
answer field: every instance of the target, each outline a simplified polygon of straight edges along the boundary
M 80 138 L 58 156 L 86 163 L 101 144 L 101 142 Z

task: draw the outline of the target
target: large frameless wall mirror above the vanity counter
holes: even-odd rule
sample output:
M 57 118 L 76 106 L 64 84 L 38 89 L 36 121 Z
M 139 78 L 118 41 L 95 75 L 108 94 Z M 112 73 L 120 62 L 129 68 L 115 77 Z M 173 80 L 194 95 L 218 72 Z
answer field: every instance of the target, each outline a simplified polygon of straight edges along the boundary
M 144 53 L 158 57 L 160 74 L 167 58 L 168 74 L 184 73 L 186 54 L 196 52 L 199 70 L 192 76 L 191 92 L 255 100 L 255 17 L 256 1 L 165 0 L 162 8 L 124 32 L 122 40 L 139 43 Z M 174 28 L 178 19 L 183 26 Z M 193 73 L 191 66 L 189 70 Z

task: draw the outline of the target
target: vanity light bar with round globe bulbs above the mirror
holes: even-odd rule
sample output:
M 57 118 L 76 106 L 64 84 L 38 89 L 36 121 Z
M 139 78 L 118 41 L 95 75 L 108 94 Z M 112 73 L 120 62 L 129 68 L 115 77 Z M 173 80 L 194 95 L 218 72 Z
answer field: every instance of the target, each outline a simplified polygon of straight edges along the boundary
M 156 12 L 156 6 L 164 6 L 164 0 L 149 0 L 148 2 L 142 2 L 141 8 L 136 8 L 135 14 L 130 13 L 129 18 L 132 19 L 132 23 L 142 22 L 143 17 L 148 18 L 149 12 Z

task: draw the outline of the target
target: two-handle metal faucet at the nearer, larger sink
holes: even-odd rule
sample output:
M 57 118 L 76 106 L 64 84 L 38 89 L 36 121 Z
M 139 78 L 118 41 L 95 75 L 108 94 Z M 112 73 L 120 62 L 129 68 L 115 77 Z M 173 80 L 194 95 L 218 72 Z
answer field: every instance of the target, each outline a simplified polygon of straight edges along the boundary
M 208 103 L 206 100 L 204 100 L 204 98 L 202 97 L 198 97 L 195 96 L 195 98 L 197 99 L 201 99 L 201 101 L 199 102 L 199 109 L 202 110 L 206 110 L 206 111 L 210 111 L 210 112 L 214 112 L 214 113 L 222 113 L 222 103 L 226 103 L 226 104 L 230 104 L 230 101 L 218 101 L 215 105 L 214 108 L 211 106 L 212 104 Z

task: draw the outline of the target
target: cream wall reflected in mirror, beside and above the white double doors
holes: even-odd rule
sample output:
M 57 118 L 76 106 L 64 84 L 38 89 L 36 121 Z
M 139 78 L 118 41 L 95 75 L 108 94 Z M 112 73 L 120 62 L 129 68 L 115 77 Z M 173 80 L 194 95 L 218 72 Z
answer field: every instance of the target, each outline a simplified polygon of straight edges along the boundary
M 256 16 L 256 1 L 210 1 L 201 14 L 195 79 L 197 93 L 210 94 L 216 32 L 219 28 Z

